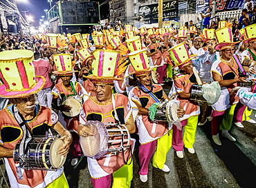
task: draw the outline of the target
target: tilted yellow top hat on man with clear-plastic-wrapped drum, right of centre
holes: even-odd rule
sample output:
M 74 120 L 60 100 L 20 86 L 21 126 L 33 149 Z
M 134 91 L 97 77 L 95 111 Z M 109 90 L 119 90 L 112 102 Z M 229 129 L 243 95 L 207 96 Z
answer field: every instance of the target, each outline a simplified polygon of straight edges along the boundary
M 180 43 L 179 45 L 175 45 L 170 50 L 168 50 L 170 54 L 170 58 L 172 59 L 172 63 L 174 67 L 179 66 L 179 68 L 187 65 L 190 61 L 196 56 L 191 55 L 188 52 L 187 45 L 185 43 Z

